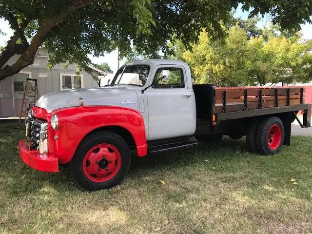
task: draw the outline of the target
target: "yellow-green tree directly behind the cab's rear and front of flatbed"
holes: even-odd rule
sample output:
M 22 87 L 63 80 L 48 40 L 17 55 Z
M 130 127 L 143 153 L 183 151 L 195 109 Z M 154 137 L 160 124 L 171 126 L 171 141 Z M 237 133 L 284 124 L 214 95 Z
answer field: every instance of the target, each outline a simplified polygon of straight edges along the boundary
M 195 83 L 211 83 L 216 86 L 245 84 L 247 70 L 247 34 L 238 25 L 229 30 L 223 40 L 214 40 L 202 32 L 193 52 L 186 51 L 183 59 L 191 66 Z

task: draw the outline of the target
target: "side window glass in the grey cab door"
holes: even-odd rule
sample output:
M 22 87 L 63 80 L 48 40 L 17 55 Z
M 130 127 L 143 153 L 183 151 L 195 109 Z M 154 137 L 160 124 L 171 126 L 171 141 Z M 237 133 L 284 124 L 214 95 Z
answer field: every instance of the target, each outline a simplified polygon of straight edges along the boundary
M 161 78 L 161 73 L 163 70 L 170 71 L 168 82 L 158 80 Z M 181 68 L 176 67 L 158 68 L 153 81 L 155 82 L 156 80 L 158 81 L 154 85 L 152 85 L 152 88 L 154 89 L 181 89 L 185 87 L 183 70 Z

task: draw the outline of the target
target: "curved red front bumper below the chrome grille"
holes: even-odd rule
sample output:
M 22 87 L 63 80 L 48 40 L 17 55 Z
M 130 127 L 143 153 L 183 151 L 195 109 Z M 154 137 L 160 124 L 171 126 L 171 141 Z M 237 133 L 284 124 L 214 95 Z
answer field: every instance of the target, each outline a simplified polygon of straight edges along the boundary
M 33 169 L 42 172 L 59 172 L 59 161 L 55 156 L 40 157 L 38 150 L 29 150 L 26 140 L 19 143 L 20 158 Z

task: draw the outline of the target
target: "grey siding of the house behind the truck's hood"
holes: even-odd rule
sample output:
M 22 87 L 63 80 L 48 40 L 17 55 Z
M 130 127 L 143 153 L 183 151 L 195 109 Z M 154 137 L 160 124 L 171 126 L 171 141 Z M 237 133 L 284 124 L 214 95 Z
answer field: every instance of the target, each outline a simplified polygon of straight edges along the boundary
M 57 64 L 52 70 L 47 70 L 47 54 L 40 48 L 37 52 L 34 63 L 28 67 L 22 69 L 22 72 L 31 72 L 31 78 L 38 80 L 38 92 L 39 97 L 42 95 L 60 91 L 60 74 L 76 74 L 77 67 L 73 64 L 69 64 L 67 69 L 63 68 L 63 64 Z M 46 57 L 42 57 L 46 56 Z M 7 62 L 8 65 L 13 64 L 18 59 L 18 56 L 14 56 Z M 83 77 L 83 88 L 98 87 L 98 83 L 94 78 L 82 71 L 80 75 Z M 98 72 L 93 73 L 94 76 L 98 77 L 101 74 Z M 16 75 L 5 78 L 0 81 L 0 117 L 8 116 L 19 116 L 22 100 L 14 98 L 14 91 L 12 86 L 14 80 L 17 78 Z M 15 106 L 14 106 L 14 104 Z M 15 111 L 14 111 L 15 109 Z

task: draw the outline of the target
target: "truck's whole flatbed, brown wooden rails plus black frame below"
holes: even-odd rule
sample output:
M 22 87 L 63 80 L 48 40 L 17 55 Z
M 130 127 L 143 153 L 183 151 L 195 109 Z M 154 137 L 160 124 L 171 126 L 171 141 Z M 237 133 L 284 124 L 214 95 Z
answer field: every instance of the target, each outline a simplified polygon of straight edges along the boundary
M 310 126 L 311 105 L 304 104 L 304 87 L 215 88 L 213 110 L 218 121 L 303 110 Z M 309 121 L 309 122 L 308 122 Z

